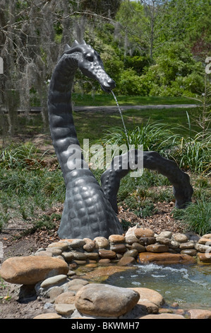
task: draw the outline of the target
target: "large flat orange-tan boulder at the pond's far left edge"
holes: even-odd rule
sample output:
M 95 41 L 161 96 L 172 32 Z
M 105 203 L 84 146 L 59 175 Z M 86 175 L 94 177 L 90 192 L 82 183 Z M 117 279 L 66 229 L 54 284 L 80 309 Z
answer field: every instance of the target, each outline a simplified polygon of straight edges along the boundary
M 15 256 L 6 259 L 0 269 L 5 281 L 27 285 L 67 273 L 68 264 L 52 256 Z

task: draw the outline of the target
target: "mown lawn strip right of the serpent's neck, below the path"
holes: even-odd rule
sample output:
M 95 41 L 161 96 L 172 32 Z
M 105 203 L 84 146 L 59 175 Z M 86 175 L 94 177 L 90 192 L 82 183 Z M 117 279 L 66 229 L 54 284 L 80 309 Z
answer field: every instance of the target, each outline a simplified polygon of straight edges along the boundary
M 188 109 L 191 120 L 195 120 L 199 110 L 197 108 Z M 74 120 L 78 140 L 83 143 L 83 139 L 100 140 L 104 136 L 104 131 L 109 128 L 123 128 L 121 116 L 116 108 L 116 112 L 74 112 Z M 134 130 L 136 126 L 146 123 L 165 123 L 169 125 L 175 135 L 189 134 L 186 110 L 183 108 L 170 109 L 150 109 L 150 110 L 127 110 L 123 111 L 123 120 L 127 130 Z M 191 133 L 199 130 L 197 125 L 192 126 Z

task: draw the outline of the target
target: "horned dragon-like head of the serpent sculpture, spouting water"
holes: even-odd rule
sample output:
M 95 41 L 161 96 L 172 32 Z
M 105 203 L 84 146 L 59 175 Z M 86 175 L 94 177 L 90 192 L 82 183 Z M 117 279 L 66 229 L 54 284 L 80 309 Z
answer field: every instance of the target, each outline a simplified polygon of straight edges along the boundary
M 77 53 L 78 68 L 86 77 L 95 79 L 99 82 L 103 91 L 110 92 L 115 88 L 116 84 L 104 70 L 104 66 L 100 55 L 85 42 L 78 43 L 76 40 L 72 47 L 66 45 L 64 53 Z

